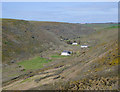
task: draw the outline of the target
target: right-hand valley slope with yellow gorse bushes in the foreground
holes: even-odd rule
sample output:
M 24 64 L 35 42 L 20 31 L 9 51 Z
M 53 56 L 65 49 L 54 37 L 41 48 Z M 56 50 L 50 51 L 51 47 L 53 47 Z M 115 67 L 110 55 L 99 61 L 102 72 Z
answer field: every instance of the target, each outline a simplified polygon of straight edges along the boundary
M 87 41 L 90 48 L 75 47 L 74 57 L 64 59 L 64 67 L 59 69 L 62 73 L 57 77 L 49 77 L 53 81 L 50 82 L 51 84 L 43 83 L 44 85 L 39 86 L 43 82 L 41 80 L 37 83 L 38 86 L 31 89 L 118 90 L 120 63 L 118 62 L 117 27 L 109 26 L 96 31 L 92 35 L 81 38 L 81 41 L 83 43 Z

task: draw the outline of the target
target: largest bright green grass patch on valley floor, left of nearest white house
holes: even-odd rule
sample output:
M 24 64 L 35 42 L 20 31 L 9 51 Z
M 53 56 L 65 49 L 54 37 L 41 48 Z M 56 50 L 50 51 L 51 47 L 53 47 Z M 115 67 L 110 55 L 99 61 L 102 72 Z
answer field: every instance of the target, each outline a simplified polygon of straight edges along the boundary
M 31 60 L 25 60 L 18 63 L 18 65 L 23 66 L 26 70 L 35 70 L 43 67 L 45 63 L 51 62 L 52 60 L 47 60 L 41 57 L 35 57 Z

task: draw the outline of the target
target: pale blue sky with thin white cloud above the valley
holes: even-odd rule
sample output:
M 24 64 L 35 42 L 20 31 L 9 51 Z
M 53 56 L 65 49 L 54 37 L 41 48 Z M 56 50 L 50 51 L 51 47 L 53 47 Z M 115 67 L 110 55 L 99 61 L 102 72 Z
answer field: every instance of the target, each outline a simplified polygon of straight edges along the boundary
M 117 2 L 3 2 L 2 18 L 68 23 L 118 21 Z

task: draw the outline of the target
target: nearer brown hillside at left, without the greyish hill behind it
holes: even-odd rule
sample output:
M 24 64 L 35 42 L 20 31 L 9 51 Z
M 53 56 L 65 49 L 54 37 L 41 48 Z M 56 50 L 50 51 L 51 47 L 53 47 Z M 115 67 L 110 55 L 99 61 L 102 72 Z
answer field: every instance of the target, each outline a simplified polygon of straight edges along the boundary
M 2 20 L 2 40 L 3 63 L 23 60 L 61 44 L 54 34 L 39 25 L 14 19 Z

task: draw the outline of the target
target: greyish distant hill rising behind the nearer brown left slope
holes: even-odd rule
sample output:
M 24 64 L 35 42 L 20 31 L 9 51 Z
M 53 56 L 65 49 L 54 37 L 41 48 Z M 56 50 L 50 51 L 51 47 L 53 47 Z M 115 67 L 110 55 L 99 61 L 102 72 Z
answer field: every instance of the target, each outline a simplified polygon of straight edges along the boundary
M 88 26 L 74 23 L 60 22 L 31 22 L 40 29 L 55 33 L 59 37 L 73 39 L 82 35 L 88 35 L 95 30 Z

